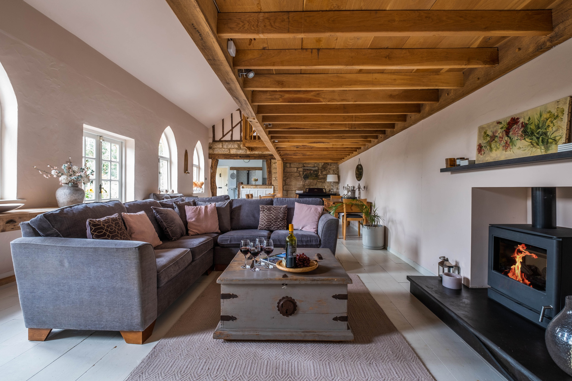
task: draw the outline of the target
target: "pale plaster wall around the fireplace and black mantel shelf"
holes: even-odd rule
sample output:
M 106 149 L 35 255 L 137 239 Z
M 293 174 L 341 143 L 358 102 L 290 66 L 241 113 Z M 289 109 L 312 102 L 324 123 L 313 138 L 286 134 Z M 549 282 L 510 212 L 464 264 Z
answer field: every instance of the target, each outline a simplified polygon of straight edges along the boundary
M 340 186 L 357 186 L 361 159 L 364 195 L 386 218 L 389 250 L 434 273 L 439 256 L 447 255 L 469 284 L 473 187 L 572 186 L 572 161 L 439 172 L 445 158 L 475 157 L 478 126 L 572 95 L 571 58 L 566 41 L 340 165 Z M 572 227 L 569 215 L 558 222 Z

